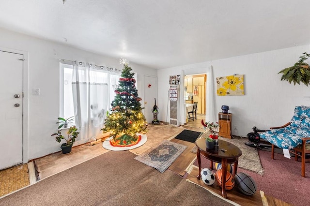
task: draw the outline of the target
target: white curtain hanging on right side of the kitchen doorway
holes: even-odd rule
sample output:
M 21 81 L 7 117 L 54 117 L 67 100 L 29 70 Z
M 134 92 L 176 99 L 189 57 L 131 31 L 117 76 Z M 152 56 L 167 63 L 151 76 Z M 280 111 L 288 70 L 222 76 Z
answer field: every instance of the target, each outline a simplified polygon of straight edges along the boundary
M 209 66 L 207 68 L 207 89 L 206 89 L 206 114 L 205 121 L 217 122 L 217 112 L 215 109 L 216 96 L 215 96 L 215 86 L 214 86 L 213 68 Z

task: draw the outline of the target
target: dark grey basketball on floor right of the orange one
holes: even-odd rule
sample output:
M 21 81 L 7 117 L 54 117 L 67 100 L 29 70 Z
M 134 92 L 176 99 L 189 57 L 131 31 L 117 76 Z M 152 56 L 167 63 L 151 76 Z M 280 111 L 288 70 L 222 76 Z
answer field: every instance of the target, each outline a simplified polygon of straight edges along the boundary
M 254 179 L 246 173 L 237 173 L 234 176 L 235 184 L 239 191 L 246 195 L 253 195 L 256 192 L 256 183 Z

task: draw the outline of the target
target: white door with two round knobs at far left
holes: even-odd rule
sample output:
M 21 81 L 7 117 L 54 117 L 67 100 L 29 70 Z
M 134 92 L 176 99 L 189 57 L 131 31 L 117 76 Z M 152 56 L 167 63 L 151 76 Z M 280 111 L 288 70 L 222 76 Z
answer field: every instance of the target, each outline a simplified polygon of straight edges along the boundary
M 23 55 L 0 51 L 0 169 L 23 162 Z

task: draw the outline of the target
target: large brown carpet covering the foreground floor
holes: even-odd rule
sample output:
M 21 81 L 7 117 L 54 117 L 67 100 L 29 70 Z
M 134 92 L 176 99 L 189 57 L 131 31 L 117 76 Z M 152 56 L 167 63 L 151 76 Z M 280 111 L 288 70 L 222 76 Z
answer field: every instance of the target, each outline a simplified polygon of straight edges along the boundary
M 170 170 L 110 151 L 0 199 L 0 206 L 204 206 L 230 205 Z

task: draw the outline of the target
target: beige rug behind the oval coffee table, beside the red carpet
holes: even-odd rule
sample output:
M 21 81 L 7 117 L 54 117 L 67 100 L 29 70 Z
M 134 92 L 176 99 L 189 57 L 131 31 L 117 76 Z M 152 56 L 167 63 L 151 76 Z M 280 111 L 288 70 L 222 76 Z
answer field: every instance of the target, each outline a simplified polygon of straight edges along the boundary
M 235 138 L 235 139 L 228 139 L 224 137 L 218 137 L 218 138 L 220 140 L 232 143 L 233 145 L 241 149 L 242 155 L 239 157 L 238 167 L 255 172 L 259 175 L 263 175 L 263 167 L 257 150 L 255 150 L 255 148 L 253 147 L 249 147 L 244 144 L 245 142 L 248 142 L 247 138 Z M 196 153 L 197 147 L 195 146 L 191 150 L 191 152 Z

